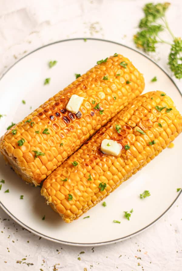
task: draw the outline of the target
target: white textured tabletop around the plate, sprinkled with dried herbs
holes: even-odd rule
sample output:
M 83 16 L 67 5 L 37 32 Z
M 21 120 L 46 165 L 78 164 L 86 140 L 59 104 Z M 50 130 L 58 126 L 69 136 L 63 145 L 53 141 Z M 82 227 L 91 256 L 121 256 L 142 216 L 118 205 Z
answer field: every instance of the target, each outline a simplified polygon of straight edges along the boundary
M 180 0 L 171 2 L 167 12 L 168 21 L 174 34 L 181 35 L 182 4 Z M 143 0 L 2 0 L 0 73 L 25 55 L 25 51 L 67 38 L 104 38 L 134 47 L 132 37 L 143 16 L 141 8 L 145 3 Z M 166 65 L 168 52 L 169 47 L 161 45 L 157 54 L 151 57 L 170 74 Z M 182 89 L 182 82 L 175 82 Z M 56 263 L 59 263 L 56 268 L 64 271 L 83 271 L 84 268 L 87 271 L 181 270 L 182 197 L 157 224 L 145 232 L 129 240 L 94 249 L 39 240 L 39 237 L 13 222 L 2 209 L 0 218 L 0 270 L 34 271 L 42 268 L 47 271 L 53 270 Z M 79 255 L 79 261 L 77 258 L 81 251 L 85 253 Z M 16 263 L 23 258 L 26 260 L 21 264 Z M 27 266 L 26 263 L 34 265 Z

